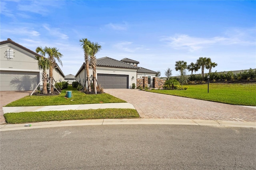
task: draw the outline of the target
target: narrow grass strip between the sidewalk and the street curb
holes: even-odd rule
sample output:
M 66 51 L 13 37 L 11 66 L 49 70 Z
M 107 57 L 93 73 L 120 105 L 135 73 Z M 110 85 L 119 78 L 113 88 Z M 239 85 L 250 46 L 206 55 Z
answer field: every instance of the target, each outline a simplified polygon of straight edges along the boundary
M 135 109 L 88 109 L 68 111 L 39 111 L 4 114 L 6 123 L 32 123 L 83 119 L 132 119 L 140 118 Z

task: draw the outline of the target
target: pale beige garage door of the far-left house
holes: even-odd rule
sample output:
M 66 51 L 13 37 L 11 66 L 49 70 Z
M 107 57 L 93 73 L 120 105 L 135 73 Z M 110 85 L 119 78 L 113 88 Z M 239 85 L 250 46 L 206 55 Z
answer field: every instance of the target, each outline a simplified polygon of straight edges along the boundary
M 0 91 L 30 91 L 38 83 L 39 72 L 0 71 Z

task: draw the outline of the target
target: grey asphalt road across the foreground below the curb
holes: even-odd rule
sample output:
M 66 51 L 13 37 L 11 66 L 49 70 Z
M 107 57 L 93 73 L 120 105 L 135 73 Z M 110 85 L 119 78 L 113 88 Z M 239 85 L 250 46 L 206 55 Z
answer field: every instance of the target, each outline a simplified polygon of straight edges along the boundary
M 256 129 L 103 125 L 0 133 L 0 169 L 256 169 Z

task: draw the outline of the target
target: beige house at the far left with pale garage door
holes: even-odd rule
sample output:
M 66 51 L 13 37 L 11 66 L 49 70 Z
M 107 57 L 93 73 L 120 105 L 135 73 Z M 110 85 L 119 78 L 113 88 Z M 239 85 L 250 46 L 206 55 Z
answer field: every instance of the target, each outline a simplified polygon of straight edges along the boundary
M 9 38 L 0 42 L 0 91 L 34 90 L 42 80 L 43 72 L 38 69 L 35 56 L 41 55 Z M 49 70 L 46 72 L 49 74 Z M 65 75 L 58 65 L 54 68 L 53 77 L 56 82 L 64 80 Z

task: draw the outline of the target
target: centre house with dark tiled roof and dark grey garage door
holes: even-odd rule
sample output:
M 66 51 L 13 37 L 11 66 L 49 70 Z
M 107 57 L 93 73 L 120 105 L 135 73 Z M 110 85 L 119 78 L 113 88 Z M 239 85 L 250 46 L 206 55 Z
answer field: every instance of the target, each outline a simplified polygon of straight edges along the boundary
M 96 79 L 98 84 L 104 89 L 130 89 L 132 83 L 136 87 L 140 82 L 144 82 L 146 78 L 146 85 L 154 87 L 153 78 L 156 72 L 138 67 L 138 61 L 124 58 L 121 61 L 110 58 L 102 57 L 97 59 L 96 62 Z M 89 71 L 90 81 L 92 80 L 92 69 Z M 86 82 L 86 68 L 85 63 L 80 67 L 75 75 L 76 81 L 80 82 L 83 86 Z M 141 84 L 141 86 L 144 86 Z

